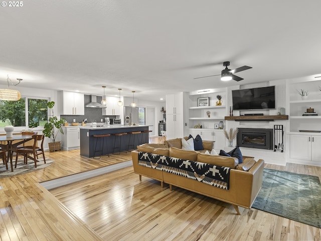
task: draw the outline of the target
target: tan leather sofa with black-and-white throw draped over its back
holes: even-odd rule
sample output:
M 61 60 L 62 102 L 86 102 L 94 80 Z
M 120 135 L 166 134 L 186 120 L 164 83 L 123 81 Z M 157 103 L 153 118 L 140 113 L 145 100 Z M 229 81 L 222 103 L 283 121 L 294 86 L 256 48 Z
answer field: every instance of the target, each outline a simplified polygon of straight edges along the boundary
M 264 160 L 261 159 L 255 161 L 253 158 L 247 158 L 245 160 L 243 159 L 242 164 L 235 165 L 235 159 L 231 157 L 211 156 L 195 151 L 180 150 L 175 147 L 162 148 L 155 146 L 154 148 L 149 147 L 149 150 L 141 149 L 140 147 L 139 149 L 143 152 L 158 155 L 168 154 L 165 156 L 230 167 L 229 189 L 226 190 L 173 173 L 138 165 L 138 150 L 131 152 L 133 169 L 134 172 L 139 175 L 139 180 L 141 180 L 141 176 L 146 176 L 160 181 L 162 187 L 164 182 L 170 184 L 170 190 L 172 190 L 172 186 L 174 185 L 230 203 L 234 206 L 238 214 L 240 214 L 238 206 L 248 209 L 251 208 L 262 185 Z

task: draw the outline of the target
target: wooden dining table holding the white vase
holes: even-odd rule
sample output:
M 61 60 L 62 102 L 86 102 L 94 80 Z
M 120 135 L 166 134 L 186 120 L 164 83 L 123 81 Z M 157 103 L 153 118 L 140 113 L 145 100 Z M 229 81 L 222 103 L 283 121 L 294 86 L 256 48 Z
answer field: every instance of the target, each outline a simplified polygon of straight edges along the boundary
M 11 171 L 14 171 L 14 166 L 12 162 L 13 152 L 17 150 L 17 147 L 25 142 L 32 140 L 32 135 L 13 135 L 12 137 L 0 136 L 0 142 L 6 142 L 6 144 L 1 144 L 2 150 L 8 152 L 7 163 L 10 161 Z M 13 143 L 14 141 L 17 141 Z

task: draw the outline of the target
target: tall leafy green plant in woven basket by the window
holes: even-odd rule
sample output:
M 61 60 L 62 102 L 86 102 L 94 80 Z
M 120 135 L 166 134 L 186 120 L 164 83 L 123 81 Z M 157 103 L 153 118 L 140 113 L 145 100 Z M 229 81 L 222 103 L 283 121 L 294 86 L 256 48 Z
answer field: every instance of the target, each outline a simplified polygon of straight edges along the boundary
M 58 133 L 60 132 L 61 134 L 64 134 L 62 130 L 62 126 L 65 123 L 65 120 L 63 118 L 59 119 L 57 116 L 54 115 L 54 109 L 53 107 L 55 106 L 54 101 L 50 101 L 47 103 L 47 106 L 49 109 L 51 109 L 51 116 L 48 119 L 48 123 L 45 124 L 43 134 L 45 137 L 50 138 L 51 142 L 48 143 L 49 145 L 49 150 L 51 152 L 60 150 L 60 142 L 56 142 L 56 137 Z

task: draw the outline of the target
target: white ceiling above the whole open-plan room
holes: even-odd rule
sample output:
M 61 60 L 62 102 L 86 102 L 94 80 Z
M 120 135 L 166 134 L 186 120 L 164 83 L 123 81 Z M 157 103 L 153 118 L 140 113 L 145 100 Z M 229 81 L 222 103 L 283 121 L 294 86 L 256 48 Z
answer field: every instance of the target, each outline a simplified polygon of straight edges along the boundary
M 7 2 L 8 3 L 8 2 Z M 0 84 L 166 93 L 321 73 L 319 0 L 28 0 L 0 7 Z M 222 63 L 244 78 L 222 82 Z M 23 93 L 22 93 L 23 94 Z

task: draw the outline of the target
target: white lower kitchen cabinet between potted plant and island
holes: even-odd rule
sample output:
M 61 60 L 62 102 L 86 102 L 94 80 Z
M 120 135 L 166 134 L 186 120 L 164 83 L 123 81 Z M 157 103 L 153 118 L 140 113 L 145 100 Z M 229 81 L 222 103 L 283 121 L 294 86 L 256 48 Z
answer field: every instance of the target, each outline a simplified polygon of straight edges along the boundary
M 64 127 L 63 128 L 62 149 L 69 151 L 80 148 L 80 129 L 79 127 Z

